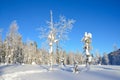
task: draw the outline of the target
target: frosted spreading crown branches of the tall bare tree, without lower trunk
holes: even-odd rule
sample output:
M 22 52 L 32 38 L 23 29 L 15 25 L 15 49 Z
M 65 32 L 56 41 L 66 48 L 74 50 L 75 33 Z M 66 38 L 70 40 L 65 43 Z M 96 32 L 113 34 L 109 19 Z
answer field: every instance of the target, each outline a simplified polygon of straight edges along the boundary
M 47 21 L 48 26 L 40 27 L 38 29 L 40 31 L 40 39 L 47 38 L 51 31 L 59 42 L 68 39 L 67 35 L 72 30 L 75 20 L 66 19 L 64 16 L 60 16 L 59 21 L 54 22 L 52 12 L 50 16 L 50 21 Z

